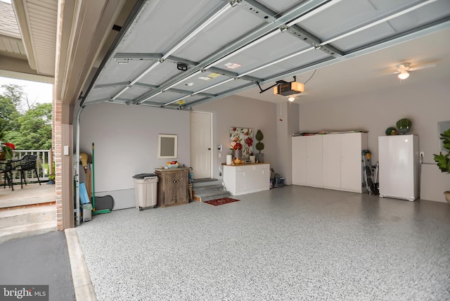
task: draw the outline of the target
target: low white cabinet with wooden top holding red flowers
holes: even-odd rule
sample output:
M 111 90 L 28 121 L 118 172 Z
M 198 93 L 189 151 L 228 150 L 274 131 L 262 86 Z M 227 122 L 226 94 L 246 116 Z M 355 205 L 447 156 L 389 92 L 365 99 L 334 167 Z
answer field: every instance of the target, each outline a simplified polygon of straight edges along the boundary
M 270 189 L 270 165 L 224 165 L 225 188 L 232 196 Z

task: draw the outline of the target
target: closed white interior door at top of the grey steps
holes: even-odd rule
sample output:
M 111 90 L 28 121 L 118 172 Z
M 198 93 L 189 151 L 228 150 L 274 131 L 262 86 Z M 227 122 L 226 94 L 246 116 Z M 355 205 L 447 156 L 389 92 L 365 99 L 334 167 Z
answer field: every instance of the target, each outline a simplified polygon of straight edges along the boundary
M 194 179 L 211 178 L 211 114 L 191 112 L 191 167 Z

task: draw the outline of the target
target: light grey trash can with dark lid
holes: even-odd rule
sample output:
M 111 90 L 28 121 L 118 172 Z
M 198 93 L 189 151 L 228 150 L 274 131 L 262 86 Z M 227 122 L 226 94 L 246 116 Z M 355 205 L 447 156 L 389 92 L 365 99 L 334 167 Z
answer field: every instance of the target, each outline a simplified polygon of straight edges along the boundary
M 136 195 L 136 209 L 141 211 L 146 207 L 156 207 L 158 191 L 158 176 L 156 174 L 135 174 L 134 191 Z

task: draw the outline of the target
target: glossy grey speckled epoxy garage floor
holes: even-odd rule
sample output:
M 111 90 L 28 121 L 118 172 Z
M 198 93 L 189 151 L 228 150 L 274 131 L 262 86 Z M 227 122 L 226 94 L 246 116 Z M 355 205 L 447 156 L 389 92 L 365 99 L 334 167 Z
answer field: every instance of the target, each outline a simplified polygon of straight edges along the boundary
M 77 228 L 98 300 L 450 300 L 450 206 L 285 186 Z

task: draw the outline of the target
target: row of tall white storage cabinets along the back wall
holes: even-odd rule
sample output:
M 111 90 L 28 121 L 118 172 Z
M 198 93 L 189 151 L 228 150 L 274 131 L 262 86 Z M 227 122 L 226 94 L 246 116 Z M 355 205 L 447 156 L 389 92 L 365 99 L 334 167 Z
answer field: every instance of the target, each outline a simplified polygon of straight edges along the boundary
M 293 184 L 361 193 L 366 148 L 366 133 L 295 136 Z

